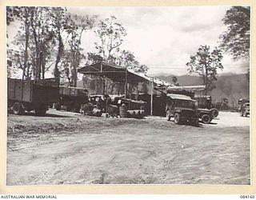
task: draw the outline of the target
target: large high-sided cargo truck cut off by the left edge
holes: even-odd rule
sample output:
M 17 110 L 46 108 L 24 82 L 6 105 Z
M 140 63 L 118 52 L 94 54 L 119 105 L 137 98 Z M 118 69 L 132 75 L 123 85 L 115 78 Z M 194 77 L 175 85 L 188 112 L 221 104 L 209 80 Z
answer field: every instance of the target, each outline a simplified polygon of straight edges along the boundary
M 42 116 L 53 103 L 59 101 L 59 78 L 42 80 L 22 80 L 8 78 L 7 80 L 8 110 L 14 114 L 24 114 L 25 111 L 35 111 Z

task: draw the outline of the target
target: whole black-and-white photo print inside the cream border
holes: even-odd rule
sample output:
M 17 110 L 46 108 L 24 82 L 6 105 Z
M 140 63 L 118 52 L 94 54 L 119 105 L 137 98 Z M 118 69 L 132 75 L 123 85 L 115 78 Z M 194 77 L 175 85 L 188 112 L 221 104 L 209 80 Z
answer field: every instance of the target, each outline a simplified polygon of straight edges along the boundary
M 251 6 L 6 6 L 6 186 L 251 186 Z

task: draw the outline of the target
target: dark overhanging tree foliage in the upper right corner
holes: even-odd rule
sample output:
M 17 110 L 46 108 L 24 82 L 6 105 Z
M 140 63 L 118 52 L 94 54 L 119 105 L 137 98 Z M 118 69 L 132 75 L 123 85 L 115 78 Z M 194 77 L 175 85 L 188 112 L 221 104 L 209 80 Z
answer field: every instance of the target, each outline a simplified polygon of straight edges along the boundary
M 250 6 L 232 6 L 222 19 L 227 30 L 220 35 L 222 50 L 234 60 L 250 56 Z

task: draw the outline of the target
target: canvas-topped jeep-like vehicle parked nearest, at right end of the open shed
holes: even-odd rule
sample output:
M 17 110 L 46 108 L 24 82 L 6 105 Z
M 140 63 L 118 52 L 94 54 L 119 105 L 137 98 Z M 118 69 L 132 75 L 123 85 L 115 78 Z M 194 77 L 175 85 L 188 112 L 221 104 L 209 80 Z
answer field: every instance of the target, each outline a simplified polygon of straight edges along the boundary
M 174 118 L 175 124 L 190 122 L 198 126 L 195 100 L 184 94 L 166 94 L 166 117 Z

